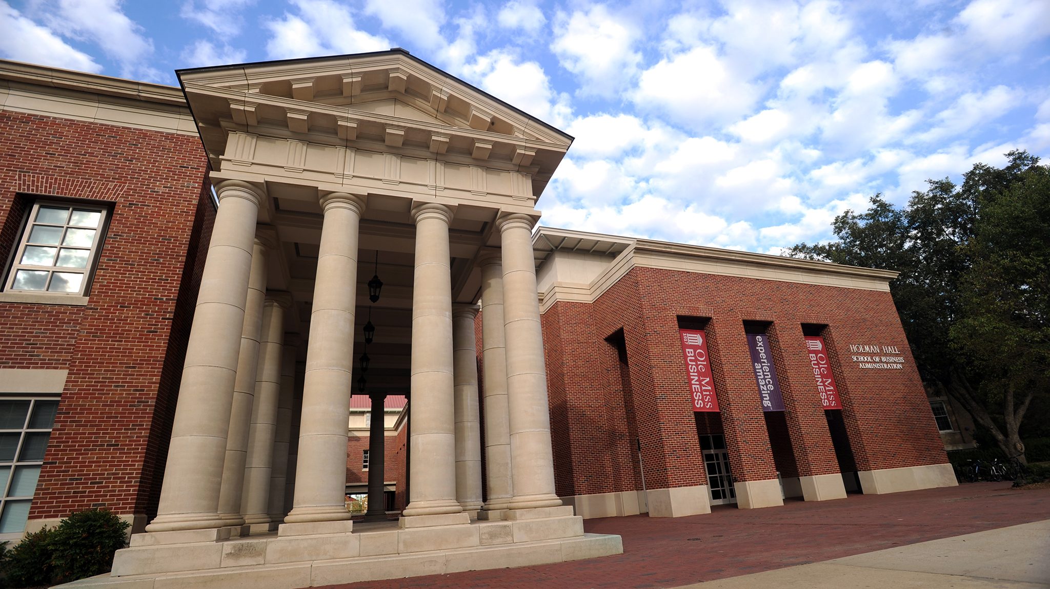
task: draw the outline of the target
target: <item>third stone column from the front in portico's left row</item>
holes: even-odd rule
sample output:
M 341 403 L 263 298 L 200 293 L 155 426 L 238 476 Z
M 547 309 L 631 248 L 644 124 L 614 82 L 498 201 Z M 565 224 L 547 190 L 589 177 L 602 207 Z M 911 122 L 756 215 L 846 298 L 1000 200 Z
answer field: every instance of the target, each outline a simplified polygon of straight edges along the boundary
M 287 292 L 271 293 L 262 309 L 259 362 L 255 377 L 255 402 L 248 431 L 248 457 L 245 462 L 245 490 L 240 512 L 252 531 L 270 531 L 270 478 L 273 472 L 273 446 L 277 434 L 277 399 L 280 396 L 281 347 L 285 336 L 285 311 L 292 306 Z M 257 526 L 257 527 L 256 527 Z

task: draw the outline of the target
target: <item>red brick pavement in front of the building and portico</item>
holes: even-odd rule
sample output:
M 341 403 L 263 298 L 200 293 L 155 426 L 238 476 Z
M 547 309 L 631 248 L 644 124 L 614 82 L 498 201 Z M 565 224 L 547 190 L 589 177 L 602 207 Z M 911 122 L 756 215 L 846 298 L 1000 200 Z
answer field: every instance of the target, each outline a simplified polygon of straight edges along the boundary
M 615 557 L 328 589 L 677 587 L 1045 519 L 1050 489 L 1011 489 L 1008 482 L 789 500 L 765 509 L 720 506 L 678 519 L 586 520 L 589 532 L 623 537 L 624 553 Z

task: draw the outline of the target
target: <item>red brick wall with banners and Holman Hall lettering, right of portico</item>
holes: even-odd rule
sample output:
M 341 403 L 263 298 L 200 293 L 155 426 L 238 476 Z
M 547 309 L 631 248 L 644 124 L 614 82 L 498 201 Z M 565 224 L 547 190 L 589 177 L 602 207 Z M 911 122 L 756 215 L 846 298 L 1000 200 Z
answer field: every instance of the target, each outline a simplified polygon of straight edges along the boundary
M 706 330 L 721 412 L 711 418 L 720 418 L 720 428 L 708 429 L 724 432 L 737 480 L 771 479 L 778 466 L 785 477 L 838 472 L 803 323 L 828 326 L 824 337 L 861 470 L 947 462 L 888 292 L 633 268 L 593 304 L 559 302 L 544 313 L 560 495 L 640 488 L 622 476 L 633 466 L 621 441 L 633 442 L 631 431 L 642 441 L 649 488 L 706 484 L 679 315 L 711 319 Z M 766 333 L 786 412 L 771 427 L 758 402 L 744 321 L 772 322 Z M 620 329 L 625 377 L 601 352 Z M 850 343 L 896 345 L 905 369 L 860 369 L 849 361 Z M 598 419 L 591 409 L 602 398 L 607 409 Z

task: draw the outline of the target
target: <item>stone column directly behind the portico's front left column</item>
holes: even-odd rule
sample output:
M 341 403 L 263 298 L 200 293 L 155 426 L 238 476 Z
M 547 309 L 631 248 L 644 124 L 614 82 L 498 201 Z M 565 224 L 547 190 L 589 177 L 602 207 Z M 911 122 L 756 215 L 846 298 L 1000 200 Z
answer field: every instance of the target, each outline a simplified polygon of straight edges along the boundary
M 223 463 L 223 489 L 218 494 L 218 512 L 226 520 L 226 525 L 230 526 L 245 523 L 240 516 L 240 497 L 245 483 L 248 430 L 252 405 L 255 402 L 255 373 L 258 368 L 259 333 L 262 330 L 262 303 L 266 299 L 266 253 L 274 245 L 276 244 L 266 237 L 256 234 L 252 247 L 252 272 L 248 279 L 237 377 L 233 384 L 233 405 L 230 410 L 230 433 L 226 438 L 226 461 Z

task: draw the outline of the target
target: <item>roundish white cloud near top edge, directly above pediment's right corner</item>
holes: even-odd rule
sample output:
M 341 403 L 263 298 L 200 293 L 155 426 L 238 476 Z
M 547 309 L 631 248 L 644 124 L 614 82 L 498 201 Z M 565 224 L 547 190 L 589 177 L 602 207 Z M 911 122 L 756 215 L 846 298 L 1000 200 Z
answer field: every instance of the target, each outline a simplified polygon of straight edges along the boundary
M 554 19 L 550 50 L 562 67 L 583 78 L 582 95 L 613 95 L 625 88 L 642 57 L 634 50 L 637 31 L 602 4 Z

